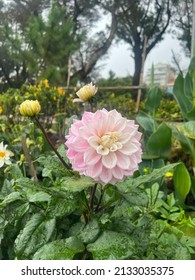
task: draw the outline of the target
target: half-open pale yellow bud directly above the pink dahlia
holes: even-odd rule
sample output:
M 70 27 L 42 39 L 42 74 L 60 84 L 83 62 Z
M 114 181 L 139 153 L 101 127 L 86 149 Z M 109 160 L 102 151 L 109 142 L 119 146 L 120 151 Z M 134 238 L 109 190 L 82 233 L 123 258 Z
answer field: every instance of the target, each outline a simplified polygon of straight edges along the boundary
M 92 83 L 85 85 L 79 91 L 76 92 L 76 95 L 79 98 L 75 98 L 73 102 L 86 102 L 91 99 L 97 92 L 98 88 L 92 85 Z

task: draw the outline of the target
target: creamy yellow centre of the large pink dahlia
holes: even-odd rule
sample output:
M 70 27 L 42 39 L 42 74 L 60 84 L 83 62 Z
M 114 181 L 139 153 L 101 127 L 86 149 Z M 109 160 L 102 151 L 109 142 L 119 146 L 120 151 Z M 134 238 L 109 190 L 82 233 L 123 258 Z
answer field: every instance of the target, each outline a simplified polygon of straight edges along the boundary
M 122 148 L 122 144 L 118 142 L 120 134 L 118 132 L 108 132 L 100 139 L 97 153 L 101 155 L 108 155 L 109 152 L 115 152 Z

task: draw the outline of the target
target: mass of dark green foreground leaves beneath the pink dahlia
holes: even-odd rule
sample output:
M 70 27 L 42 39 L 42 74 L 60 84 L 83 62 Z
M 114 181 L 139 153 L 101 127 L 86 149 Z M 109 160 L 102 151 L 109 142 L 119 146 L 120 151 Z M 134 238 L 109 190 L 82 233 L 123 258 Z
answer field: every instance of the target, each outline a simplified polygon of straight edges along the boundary
M 193 258 L 194 237 L 181 227 L 194 228 L 193 218 L 187 219 L 173 196 L 166 203 L 158 183 L 178 164 L 116 186 L 96 186 L 92 202 L 91 179 L 64 172 L 52 155 L 38 162 L 43 180 L 34 182 L 15 169 L 14 179 L 5 179 L 1 188 L 2 259 Z

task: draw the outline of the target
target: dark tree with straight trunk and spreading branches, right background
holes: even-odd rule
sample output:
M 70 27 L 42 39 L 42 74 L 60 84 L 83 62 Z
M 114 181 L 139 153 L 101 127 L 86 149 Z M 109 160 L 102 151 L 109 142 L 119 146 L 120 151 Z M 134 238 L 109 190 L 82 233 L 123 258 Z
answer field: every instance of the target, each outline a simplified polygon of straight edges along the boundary
M 144 38 L 145 58 L 163 40 L 172 15 L 171 0 L 121 0 L 117 36 L 131 47 L 135 64 L 133 85 L 139 84 Z

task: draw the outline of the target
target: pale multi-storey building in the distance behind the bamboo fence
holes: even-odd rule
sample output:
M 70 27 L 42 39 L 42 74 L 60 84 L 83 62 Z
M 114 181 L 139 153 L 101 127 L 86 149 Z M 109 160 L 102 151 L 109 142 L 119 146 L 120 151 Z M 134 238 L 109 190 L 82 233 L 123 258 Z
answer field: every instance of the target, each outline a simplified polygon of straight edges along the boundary
M 176 70 L 169 64 L 155 64 L 150 69 L 148 69 L 144 77 L 144 83 L 146 85 L 151 84 L 152 75 L 154 85 L 164 88 L 170 88 L 173 87 L 177 73 Z

